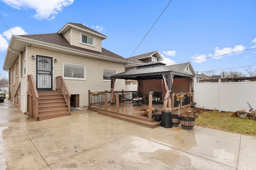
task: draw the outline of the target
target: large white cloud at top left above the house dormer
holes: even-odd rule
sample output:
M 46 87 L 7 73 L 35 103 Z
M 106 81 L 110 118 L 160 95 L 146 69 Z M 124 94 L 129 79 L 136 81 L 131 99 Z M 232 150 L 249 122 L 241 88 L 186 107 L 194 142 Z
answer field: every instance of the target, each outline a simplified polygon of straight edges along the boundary
M 37 20 L 53 20 L 64 7 L 71 5 L 74 0 L 2 0 L 12 8 L 18 10 L 32 8 L 36 10 Z

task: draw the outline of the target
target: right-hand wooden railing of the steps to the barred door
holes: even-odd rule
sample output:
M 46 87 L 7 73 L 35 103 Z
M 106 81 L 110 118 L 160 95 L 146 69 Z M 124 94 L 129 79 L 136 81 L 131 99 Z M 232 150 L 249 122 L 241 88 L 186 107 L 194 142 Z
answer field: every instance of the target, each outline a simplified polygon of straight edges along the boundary
M 61 91 L 62 95 L 64 97 L 64 100 L 66 101 L 68 112 L 70 112 L 70 92 L 68 91 L 68 87 L 64 81 L 64 78 L 62 76 L 56 77 L 56 90 Z

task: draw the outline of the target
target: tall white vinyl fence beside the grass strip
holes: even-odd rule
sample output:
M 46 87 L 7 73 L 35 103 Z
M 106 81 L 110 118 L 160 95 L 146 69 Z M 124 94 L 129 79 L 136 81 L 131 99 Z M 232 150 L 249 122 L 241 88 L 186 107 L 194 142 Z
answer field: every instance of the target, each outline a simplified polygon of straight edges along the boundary
M 256 82 L 194 83 L 194 101 L 205 109 L 249 111 L 256 109 Z

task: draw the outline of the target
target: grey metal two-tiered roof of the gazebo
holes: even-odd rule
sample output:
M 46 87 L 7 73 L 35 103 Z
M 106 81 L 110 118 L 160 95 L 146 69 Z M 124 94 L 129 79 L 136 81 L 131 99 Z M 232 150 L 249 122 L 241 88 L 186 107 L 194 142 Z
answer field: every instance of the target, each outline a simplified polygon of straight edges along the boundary
M 159 61 L 144 63 L 138 65 L 136 68 L 121 72 L 110 76 L 110 78 L 128 79 L 128 80 L 150 80 L 150 79 L 162 79 L 163 74 L 174 74 L 176 78 L 181 77 L 194 77 L 186 72 L 175 70 L 173 68 L 167 68 L 166 64 Z

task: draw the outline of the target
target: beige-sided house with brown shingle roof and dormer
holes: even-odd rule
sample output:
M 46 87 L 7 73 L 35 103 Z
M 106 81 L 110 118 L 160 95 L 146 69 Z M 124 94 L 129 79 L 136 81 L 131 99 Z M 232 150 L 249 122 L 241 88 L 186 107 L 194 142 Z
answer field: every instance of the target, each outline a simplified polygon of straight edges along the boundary
M 72 105 L 88 106 L 88 90 L 110 91 L 110 76 L 131 63 L 102 48 L 104 39 L 105 35 L 80 23 L 66 23 L 57 33 L 12 35 L 3 66 L 10 74 L 11 101 L 26 113 L 35 99 L 28 90 L 30 75 L 38 93 L 56 90 L 57 77 L 62 76 Z M 115 84 L 116 90 L 124 86 L 124 80 Z

